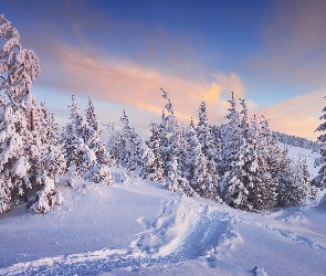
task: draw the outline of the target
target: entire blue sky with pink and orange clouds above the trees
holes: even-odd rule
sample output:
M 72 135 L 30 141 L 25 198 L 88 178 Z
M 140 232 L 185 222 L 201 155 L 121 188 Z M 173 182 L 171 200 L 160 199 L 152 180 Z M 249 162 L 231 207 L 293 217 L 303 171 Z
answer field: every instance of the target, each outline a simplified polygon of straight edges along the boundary
M 180 124 L 225 123 L 231 92 L 273 130 L 316 139 L 326 106 L 324 0 L 11 0 L 1 13 L 40 59 L 32 92 L 57 123 L 71 96 L 146 136 L 169 92 Z M 238 105 L 240 106 L 240 105 Z M 240 107 L 239 107 L 240 108 Z M 105 129 L 105 127 L 103 127 Z

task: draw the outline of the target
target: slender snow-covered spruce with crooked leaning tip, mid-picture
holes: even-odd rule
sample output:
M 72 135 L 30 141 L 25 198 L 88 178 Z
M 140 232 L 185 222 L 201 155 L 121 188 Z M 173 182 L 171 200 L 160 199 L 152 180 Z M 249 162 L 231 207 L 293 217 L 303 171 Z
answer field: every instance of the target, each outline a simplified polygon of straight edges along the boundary
M 173 113 L 172 104 L 169 99 L 168 92 L 160 88 L 162 97 L 168 100 L 165 108 L 168 112 L 167 116 L 162 116 L 160 129 L 162 131 L 161 156 L 164 161 L 164 172 L 166 178 L 167 189 L 171 192 L 183 192 L 191 197 L 196 192 L 190 187 L 189 181 L 185 177 L 182 153 L 187 144 L 183 136 L 185 131 L 177 124 L 177 118 Z M 182 152 L 181 152 L 182 151 Z

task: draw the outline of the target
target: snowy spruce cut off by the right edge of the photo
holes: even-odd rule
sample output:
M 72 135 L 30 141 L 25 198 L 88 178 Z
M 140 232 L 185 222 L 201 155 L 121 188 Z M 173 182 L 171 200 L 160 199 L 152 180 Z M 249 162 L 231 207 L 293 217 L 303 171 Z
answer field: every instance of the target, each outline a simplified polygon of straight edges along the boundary
M 318 176 L 314 178 L 314 183 L 317 187 L 326 188 L 326 106 L 323 108 L 323 115 L 319 117 L 320 120 L 324 120 L 315 131 L 323 132 L 317 137 L 318 142 L 318 153 L 320 155 L 319 158 L 315 160 L 315 167 L 319 167 Z

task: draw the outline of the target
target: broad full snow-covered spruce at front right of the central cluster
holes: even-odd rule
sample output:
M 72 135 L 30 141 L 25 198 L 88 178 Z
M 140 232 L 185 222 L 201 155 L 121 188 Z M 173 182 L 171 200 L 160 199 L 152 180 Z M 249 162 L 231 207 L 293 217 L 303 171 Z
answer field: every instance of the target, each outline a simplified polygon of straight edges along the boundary
M 229 171 L 224 173 L 224 200 L 231 206 L 248 211 L 267 210 L 276 202 L 276 183 L 267 162 L 270 148 L 264 138 L 264 131 L 267 130 L 261 131 L 255 116 L 251 126 L 249 125 L 244 99 L 240 99 L 242 106 L 240 115 L 242 117 L 236 117 L 234 102 L 230 103 L 232 108 L 229 110 L 235 115 L 229 117 L 235 117 L 238 121 L 238 124 L 234 121 L 232 124 L 238 129 L 231 131 L 231 139 L 233 138 L 233 145 L 235 144 L 238 150 L 230 162 Z M 224 126 L 227 130 L 229 127 L 230 125 Z M 227 142 L 228 138 L 230 139 L 230 137 L 227 137 Z M 234 138 L 238 139 L 238 144 L 234 142 Z M 228 149 L 228 144 L 223 146 L 227 146 Z M 225 151 L 225 149 L 223 150 Z

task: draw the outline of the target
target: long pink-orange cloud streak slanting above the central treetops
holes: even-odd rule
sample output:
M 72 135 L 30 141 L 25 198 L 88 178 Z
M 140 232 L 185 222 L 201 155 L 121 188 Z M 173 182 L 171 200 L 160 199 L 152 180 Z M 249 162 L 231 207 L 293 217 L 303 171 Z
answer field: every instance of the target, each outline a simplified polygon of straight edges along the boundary
M 53 63 L 57 64 L 54 66 Z M 197 117 L 198 106 L 204 100 L 210 118 L 217 124 L 227 112 L 221 96 L 229 97 L 230 91 L 234 91 L 236 97 L 244 95 L 235 73 L 214 73 L 212 82 L 193 81 L 70 46 L 57 47 L 52 66 L 56 67 L 55 74 L 48 72 L 46 78 L 40 78 L 42 85 L 159 115 L 166 104 L 159 89 L 164 87 L 171 92 L 176 115 L 182 123 Z

